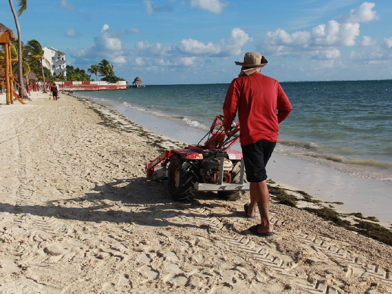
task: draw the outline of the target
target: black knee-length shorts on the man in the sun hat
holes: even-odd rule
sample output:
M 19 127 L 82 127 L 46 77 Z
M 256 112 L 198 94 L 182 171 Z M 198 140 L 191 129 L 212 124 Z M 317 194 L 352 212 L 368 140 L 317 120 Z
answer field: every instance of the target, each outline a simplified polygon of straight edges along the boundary
M 259 183 L 267 179 L 266 165 L 275 146 L 276 142 L 267 140 L 259 140 L 256 143 L 242 146 L 248 182 Z

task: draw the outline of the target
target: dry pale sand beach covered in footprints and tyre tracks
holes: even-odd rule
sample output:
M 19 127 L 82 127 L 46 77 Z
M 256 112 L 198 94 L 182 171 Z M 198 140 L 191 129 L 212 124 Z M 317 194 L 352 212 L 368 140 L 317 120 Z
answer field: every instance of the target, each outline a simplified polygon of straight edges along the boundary
M 0 95 L 1 293 L 392 292 L 391 246 L 277 203 L 274 236 L 251 235 L 248 195 L 175 202 L 146 180 L 173 142 L 87 100 L 32 99 Z

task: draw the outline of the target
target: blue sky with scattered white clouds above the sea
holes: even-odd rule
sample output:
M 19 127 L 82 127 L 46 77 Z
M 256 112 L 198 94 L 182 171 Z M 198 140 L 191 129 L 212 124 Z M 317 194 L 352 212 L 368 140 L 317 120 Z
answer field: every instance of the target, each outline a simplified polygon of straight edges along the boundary
M 148 85 L 229 83 L 250 51 L 278 81 L 389 79 L 391 15 L 391 0 L 27 0 L 19 22 L 67 65 L 105 58 Z M 5 1 L 0 22 L 16 33 Z

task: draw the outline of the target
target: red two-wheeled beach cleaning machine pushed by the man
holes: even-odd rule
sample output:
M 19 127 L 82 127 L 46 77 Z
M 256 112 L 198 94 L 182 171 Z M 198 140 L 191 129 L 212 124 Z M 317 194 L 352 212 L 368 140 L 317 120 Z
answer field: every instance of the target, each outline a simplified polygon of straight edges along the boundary
M 224 133 L 223 116 L 217 115 L 204 145 L 166 150 L 146 162 L 149 180 L 163 181 L 175 200 L 185 200 L 195 192 L 217 191 L 226 200 L 236 200 L 249 190 L 245 180 L 242 152 L 230 150 L 239 140 L 240 124 L 233 123 L 228 136 Z

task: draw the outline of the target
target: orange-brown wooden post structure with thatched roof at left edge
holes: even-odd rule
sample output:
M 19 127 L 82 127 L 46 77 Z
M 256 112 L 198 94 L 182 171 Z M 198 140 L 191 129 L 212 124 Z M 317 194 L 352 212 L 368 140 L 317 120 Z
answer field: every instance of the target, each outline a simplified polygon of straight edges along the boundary
M 17 86 L 18 88 L 21 88 L 21 86 L 16 82 L 18 76 L 13 75 L 12 73 L 11 40 L 17 40 L 14 31 L 5 25 L 0 24 L 0 45 L 4 47 L 5 56 L 5 68 L 0 66 L 0 85 L 7 91 L 7 105 L 14 104 L 14 98 L 16 98 L 22 104 L 26 104 L 14 91 L 14 86 Z

